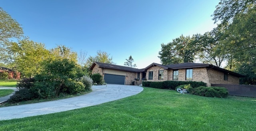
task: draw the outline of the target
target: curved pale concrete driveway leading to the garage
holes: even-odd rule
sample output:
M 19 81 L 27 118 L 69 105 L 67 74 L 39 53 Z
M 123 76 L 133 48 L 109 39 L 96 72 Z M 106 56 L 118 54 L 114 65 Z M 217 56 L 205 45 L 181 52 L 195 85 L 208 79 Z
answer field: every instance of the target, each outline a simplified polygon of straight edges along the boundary
M 92 86 L 92 92 L 66 99 L 46 101 L 26 105 L 0 107 L 0 120 L 44 115 L 68 111 L 92 105 L 114 101 L 140 93 L 143 88 L 134 85 L 97 85 Z

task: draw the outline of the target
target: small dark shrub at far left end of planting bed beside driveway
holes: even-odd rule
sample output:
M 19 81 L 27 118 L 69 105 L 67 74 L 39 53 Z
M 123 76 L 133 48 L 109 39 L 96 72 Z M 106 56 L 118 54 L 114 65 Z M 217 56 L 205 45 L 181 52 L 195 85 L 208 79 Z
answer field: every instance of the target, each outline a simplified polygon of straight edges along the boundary
M 23 88 L 15 91 L 14 95 L 7 100 L 8 103 L 16 103 L 20 101 L 28 101 L 33 99 L 33 95 L 29 89 Z

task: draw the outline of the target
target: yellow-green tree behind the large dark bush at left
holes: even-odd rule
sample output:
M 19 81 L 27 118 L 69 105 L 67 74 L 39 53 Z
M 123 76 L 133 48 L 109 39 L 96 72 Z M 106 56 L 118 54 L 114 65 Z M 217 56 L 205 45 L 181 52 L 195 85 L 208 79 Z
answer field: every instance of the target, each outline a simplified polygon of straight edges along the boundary
M 42 62 L 50 58 L 50 52 L 44 44 L 28 39 L 20 40 L 18 43 L 11 42 L 8 52 L 12 54 L 16 69 L 25 77 L 33 77 L 36 73 L 40 73 Z

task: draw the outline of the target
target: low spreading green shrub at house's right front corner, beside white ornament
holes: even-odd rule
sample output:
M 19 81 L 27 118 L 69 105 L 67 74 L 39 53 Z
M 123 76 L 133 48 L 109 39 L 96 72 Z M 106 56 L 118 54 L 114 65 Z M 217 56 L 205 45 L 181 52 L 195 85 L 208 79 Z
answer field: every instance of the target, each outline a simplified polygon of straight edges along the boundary
M 200 86 L 190 90 L 193 95 L 205 97 L 228 97 L 228 90 L 224 87 L 204 87 Z

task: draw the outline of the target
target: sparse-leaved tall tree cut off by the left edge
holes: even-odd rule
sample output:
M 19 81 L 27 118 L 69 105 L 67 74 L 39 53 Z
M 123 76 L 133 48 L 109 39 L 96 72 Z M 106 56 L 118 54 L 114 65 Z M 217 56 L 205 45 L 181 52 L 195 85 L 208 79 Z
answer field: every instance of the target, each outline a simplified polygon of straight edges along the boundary
M 21 25 L 0 7 L 0 62 L 6 64 L 8 61 L 7 46 L 10 39 L 19 39 L 23 35 Z

